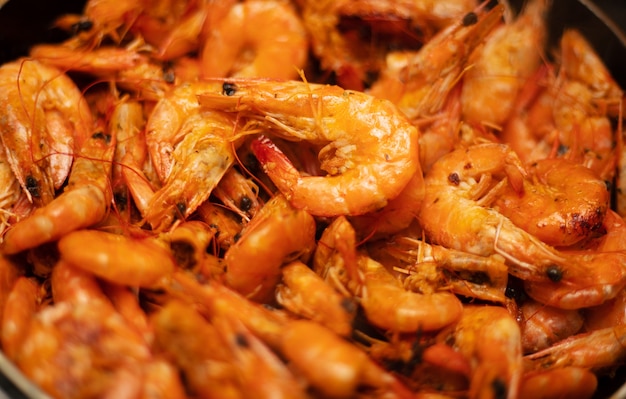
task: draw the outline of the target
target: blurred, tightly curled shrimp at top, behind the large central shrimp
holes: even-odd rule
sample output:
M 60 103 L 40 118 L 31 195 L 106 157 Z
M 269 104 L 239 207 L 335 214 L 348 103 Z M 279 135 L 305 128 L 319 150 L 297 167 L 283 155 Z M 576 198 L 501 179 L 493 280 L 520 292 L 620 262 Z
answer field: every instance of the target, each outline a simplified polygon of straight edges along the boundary
M 205 78 L 294 79 L 308 56 L 308 38 L 290 2 L 246 0 L 213 24 L 200 52 Z

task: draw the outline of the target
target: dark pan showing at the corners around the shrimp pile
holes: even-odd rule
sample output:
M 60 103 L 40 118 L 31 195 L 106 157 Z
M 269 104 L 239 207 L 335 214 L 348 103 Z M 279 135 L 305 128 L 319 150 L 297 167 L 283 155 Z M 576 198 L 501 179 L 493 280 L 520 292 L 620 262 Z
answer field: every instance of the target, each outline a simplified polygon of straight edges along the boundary
M 561 33 L 577 28 L 590 41 L 613 77 L 626 88 L 626 2 L 623 0 L 552 0 L 548 15 L 550 49 L 558 45 Z M 523 0 L 510 0 L 519 10 Z M 0 0 L 0 64 L 26 55 L 35 43 L 65 40 L 66 33 L 53 27 L 54 19 L 65 13 L 81 13 L 84 1 Z M 609 17 L 610 16 L 610 17 Z M 44 399 L 0 352 L 0 399 Z M 626 367 L 613 376 L 599 378 L 594 399 L 626 399 Z

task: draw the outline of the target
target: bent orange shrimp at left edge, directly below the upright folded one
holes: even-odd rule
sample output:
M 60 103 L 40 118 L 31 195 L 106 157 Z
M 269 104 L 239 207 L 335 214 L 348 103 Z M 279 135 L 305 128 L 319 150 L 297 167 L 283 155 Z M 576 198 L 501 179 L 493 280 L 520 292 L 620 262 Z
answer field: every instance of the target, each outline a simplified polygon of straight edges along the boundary
M 103 132 L 87 138 L 76 153 L 63 193 L 7 231 L 1 245 L 4 253 L 34 248 L 102 221 L 111 203 L 115 143 L 115 137 Z

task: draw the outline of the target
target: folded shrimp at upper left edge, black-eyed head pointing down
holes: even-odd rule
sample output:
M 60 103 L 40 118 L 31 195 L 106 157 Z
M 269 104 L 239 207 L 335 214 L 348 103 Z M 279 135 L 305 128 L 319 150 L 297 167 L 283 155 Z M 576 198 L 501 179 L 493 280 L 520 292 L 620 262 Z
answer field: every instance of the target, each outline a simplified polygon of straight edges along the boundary
M 29 201 L 43 206 L 65 182 L 89 135 L 91 113 L 68 76 L 38 61 L 3 64 L 0 87 L 6 159 Z

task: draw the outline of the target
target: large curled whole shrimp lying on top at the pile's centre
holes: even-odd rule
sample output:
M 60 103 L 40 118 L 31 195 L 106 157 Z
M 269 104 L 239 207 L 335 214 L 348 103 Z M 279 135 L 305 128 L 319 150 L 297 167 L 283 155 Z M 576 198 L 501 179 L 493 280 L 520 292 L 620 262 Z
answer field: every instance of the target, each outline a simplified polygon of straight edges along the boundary
M 395 198 L 419 164 L 418 132 L 388 101 L 337 86 L 239 81 L 224 94 L 201 94 L 209 109 L 238 112 L 289 140 L 325 144 L 326 176 L 302 176 L 269 139 L 255 155 L 279 190 L 314 215 L 357 215 Z M 350 117 L 348 117 L 350 115 Z

